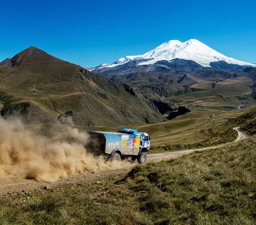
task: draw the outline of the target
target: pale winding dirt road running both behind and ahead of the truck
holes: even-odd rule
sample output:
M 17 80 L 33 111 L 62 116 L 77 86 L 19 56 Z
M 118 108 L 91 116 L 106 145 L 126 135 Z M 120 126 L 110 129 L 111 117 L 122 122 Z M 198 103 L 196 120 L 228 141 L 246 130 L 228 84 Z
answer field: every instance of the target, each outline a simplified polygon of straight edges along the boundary
M 234 127 L 233 130 L 236 130 L 238 135 L 235 141 L 239 142 L 242 139 L 245 139 L 247 136 L 245 133 L 239 131 L 239 127 Z M 196 148 L 190 150 L 182 150 L 182 151 L 171 151 L 164 152 L 158 154 L 148 154 L 148 162 L 157 162 L 160 160 L 168 160 L 172 158 L 181 157 L 184 154 L 190 154 L 194 151 L 205 151 L 209 149 L 215 149 L 222 147 L 224 145 L 229 145 L 232 142 L 224 143 L 221 145 L 216 145 L 212 147 L 206 148 Z M 78 175 L 73 175 L 68 178 L 62 178 L 55 183 L 47 183 L 47 182 L 38 182 L 34 180 L 24 179 L 24 178 L 0 178 L 0 195 L 10 195 L 10 193 L 14 192 L 24 192 L 24 191 L 38 191 L 44 188 L 56 188 L 61 187 L 62 184 L 66 183 L 76 183 L 78 181 L 99 181 L 102 178 L 111 178 L 116 177 L 117 175 L 126 174 L 131 168 L 133 168 L 134 163 L 131 163 L 131 166 L 126 169 L 116 169 L 116 170 L 107 170 L 107 171 L 99 171 L 95 173 L 81 173 Z

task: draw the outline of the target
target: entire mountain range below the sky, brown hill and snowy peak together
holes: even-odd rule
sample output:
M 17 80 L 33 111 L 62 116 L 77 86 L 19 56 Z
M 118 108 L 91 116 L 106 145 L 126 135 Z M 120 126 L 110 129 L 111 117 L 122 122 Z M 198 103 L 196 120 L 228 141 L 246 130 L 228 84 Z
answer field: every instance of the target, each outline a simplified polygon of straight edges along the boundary
M 164 121 L 187 108 L 240 109 L 256 99 L 254 65 L 198 40 L 172 40 L 92 71 L 31 46 L 0 63 L 0 114 L 114 126 Z

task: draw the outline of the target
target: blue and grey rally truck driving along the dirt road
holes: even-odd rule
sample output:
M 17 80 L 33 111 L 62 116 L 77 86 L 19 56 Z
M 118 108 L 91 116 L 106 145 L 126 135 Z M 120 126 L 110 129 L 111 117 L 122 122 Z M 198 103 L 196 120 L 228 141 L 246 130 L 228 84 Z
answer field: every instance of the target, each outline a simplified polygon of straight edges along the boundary
M 87 131 L 89 141 L 87 151 L 93 154 L 105 155 L 106 160 L 138 160 L 145 163 L 146 151 L 149 151 L 151 142 L 148 133 L 136 129 L 123 128 L 117 132 Z

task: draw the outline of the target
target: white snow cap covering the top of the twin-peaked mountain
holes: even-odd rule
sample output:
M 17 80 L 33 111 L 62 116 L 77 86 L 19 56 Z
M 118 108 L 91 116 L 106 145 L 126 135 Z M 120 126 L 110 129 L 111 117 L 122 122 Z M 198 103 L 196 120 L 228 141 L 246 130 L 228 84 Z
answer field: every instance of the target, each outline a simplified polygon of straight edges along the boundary
M 154 65 L 160 61 L 171 62 L 173 59 L 179 58 L 197 62 L 203 67 L 211 67 L 212 62 L 226 62 L 230 65 L 255 67 L 256 65 L 227 57 L 215 49 L 210 48 L 206 44 L 196 39 L 190 39 L 185 42 L 179 40 L 169 40 L 166 43 L 157 46 L 155 49 L 146 52 L 143 55 L 128 55 L 117 60 L 112 64 L 102 64 L 95 69 L 116 68 L 129 62 L 136 62 L 133 66 Z M 92 70 L 92 71 L 93 71 Z

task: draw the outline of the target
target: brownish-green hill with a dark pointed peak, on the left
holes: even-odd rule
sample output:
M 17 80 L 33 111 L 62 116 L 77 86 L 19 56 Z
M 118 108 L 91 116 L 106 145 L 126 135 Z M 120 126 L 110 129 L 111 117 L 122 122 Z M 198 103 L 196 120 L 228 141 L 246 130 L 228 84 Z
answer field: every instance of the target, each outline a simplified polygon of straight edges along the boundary
M 0 110 L 27 123 L 81 125 L 163 121 L 139 93 L 33 46 L 0 64 Z

